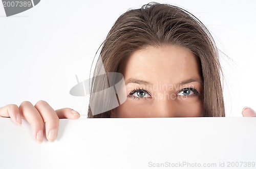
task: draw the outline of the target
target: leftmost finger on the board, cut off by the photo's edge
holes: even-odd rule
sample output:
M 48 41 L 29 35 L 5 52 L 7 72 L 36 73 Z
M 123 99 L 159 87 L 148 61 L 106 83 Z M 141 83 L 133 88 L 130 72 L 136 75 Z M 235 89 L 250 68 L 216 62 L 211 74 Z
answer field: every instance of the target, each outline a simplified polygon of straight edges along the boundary
M 0 108 L 0 117 L 11 118 L 11 120 L 18 124 L 22 125 L 22 118 L 20 116 L 20 112 L 18 106 L 15 104 L 9 104 Z

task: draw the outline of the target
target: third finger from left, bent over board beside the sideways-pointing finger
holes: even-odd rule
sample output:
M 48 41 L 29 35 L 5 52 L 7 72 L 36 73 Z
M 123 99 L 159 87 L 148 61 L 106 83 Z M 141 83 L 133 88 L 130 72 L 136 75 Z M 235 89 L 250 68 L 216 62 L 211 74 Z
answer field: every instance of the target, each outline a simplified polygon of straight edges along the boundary
M 46 137 L 50 142 L 54 142 L 58 134 L 59 118 L 54 109 L 46 101 L 38 101 L 35 108 L 40 112 L 42 120 L 45 122 Z

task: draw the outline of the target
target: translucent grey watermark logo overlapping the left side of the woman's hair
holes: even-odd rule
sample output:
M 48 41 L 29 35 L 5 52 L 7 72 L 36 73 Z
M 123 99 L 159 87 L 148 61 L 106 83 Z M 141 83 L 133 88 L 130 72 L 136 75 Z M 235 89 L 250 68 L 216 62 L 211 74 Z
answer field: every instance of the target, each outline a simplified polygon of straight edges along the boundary
M 118 72 L 106 73 L 101 59 L 99 60 L 98 67 L 100 67 L 100 71 L 96 77 L 79 81 L 76 75 L 77 84 L 70 89 L 70 95 L 72 96 L 90 95 L 90 98 L 93 100 L 90 103 L 93 115 L 116 108 L 127 99 L 123 75 Z M 93 79 L 97 83 L 94 84 L 95 90 L 93 93 L 90 93 L 92 91 Z

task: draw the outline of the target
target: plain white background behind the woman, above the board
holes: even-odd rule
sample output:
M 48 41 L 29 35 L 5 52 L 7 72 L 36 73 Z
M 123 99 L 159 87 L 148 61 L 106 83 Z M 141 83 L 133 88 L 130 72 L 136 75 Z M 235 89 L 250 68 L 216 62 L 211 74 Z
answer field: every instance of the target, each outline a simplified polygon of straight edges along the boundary
M 6 17 L 0 5 L 0 107 L 46 100 L 54 109 L 87 113 L 88 97 L 69 90 L 89 78 L 94 55 L 115 20 L 150 1 L 41 0 Z M 254 1 L 157 1 L 186 9 L 210 30 L 221 51 L 227 116 L 256 109 Z M 85 102 L 84 102 L 85 101 Z

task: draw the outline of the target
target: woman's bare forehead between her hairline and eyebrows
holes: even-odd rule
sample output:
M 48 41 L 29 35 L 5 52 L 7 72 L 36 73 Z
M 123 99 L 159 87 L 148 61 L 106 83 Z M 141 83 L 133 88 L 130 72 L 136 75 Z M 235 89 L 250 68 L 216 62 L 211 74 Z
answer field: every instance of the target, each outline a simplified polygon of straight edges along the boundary
M 201 79 L 201 69 L 193 52 L 182 46 L 148 46 L 133 52 L 120 65 L 124 79 L 139 78 L 153 83 L 179 83 L 193 77 Z

